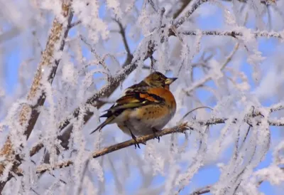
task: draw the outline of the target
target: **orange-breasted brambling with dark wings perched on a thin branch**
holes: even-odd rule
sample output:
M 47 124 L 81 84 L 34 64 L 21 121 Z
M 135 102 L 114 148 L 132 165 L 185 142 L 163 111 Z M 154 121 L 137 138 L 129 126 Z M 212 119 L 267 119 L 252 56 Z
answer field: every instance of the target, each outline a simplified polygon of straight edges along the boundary
M 100 116 L 107 117 L 107 120 L 93 132 L 116 123 L 124 133 L 136 140 L 136 136 L 162 130 L 175 115 L 176 102 L 170 92 L 170 84 L 176 79 L 154 72 L 140 83 L 127 88 L 116 103 L 105 110 L 107 113 Z M 159 137 L 156 138 L 160 141 Z

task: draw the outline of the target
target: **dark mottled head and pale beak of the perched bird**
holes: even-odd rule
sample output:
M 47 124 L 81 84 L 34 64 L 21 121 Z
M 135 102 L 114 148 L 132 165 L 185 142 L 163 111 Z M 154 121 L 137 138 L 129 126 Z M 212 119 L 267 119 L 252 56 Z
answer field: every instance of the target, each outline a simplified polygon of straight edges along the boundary
M 155 88 L 167 88 L 169 89 L 170 84 L 172 84 L 178 78 L 167 78 L 160 72 L 154 72 L 148 75 L 144 82 L 147 83 L 151 87 Z

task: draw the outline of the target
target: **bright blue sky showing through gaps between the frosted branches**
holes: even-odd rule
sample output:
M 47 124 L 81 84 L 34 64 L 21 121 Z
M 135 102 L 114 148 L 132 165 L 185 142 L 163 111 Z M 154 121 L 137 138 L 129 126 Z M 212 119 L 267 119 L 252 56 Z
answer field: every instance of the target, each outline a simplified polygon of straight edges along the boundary
M 101 14 L 104 15 L 104 10 L 101 9 L 100 11 L 101 11 Z M 210 30 L 210 29 L 217 30 L 218 28 L 222 27 L 221 24 L 223 22 L 224 22 L 223 15 L 220 11 L 215 13 L 214 16 L 201 17 L 200 19 L 198 19 L 198 23 L 200 24 L 200 26 L 206 30 Z M 253 26 L 253 23 L 249 23 L 249 27 L 252 27 L 252 26 Z M 71 31 L 71 35 L 72 35 L 72 31 Z M 17 80 L 18 79 L 18 66 L 23 60 L 26 60 L 26 57 L 27 57 L 21 54 L 22 53 L 21 49 L 23 47 L 17 45 L 16 39 L 17 38 L 14 38 L 12 40 L 14 45 L 13 45 L 11 52 L 9 52 L 9 55 L 5 56 L 5 65 L 6 65 L 5 87 L 9 95 L 13 95 L 13 92 L 18 82 Z M 263 53 L 263 56 L 268 56 L 268 57 L 271 56 L 273 52 L 275 51 L 278 41 L 276 41 L 273 38 L 269 38 L 269 39 L 268 38 L 258 38 L 258 40 L 259 40 L 258 49 L 259 51 Z M 130 38 L 128 38 L 128 41 L 129 41 L 131 51 L 133 51 L 136 48 L 137 44 L 133 43 L 130 40 Z M 122 45 L 121 45 L 121 49 L 123 49 Z M 242 68 L 244 72 L 247 73 L 247 75 L 251 75 L 251 72 L 252 72 L 251 65 L 246 63 L 245 59 L 243 63 L 244 65 L 242 65 Z M 249 81 L 252 86 L 251 90 L 253 90 L 255 85 L 251 77 L 249 77 Z M 203 98 L 203 100 L 204 98 L 206 98 L 206 93 L 204 92 L 200 92 L 199 95 L 201 99 Z M 271 100 L 266 100 L 265 102 L 263 102 L 263 105 L 271 105 L 272 103 L 273 102 Z M 278 137 L 280 137 L 281 130 L 282 128 L 280 127 L 271 127 L 272 141 L 273 139 L 277 139 Z M 261 164 L 259 164 L 258 168 L 268 166 L 271 163 L 271 159 L 272 159 L 271 157 L 272 157 L 271 152 L 268 152 L 268 154 L 266 155 L 266 159 L 263 162 L 261 162 Z M 190 184 L 189 186 L 187 186 L 182 191 L 181 194 L 188 194 L 190 191 L 192 191 L 193 189 L 197 187 L 196 184 L 198 184 L 198 186 L 206 186 L 208 184 L 214 184 L 214 182 L 218 181 L 219 174 L 220 174 L 219 169 L 213 165 L 210 167 L 206 167 L 206 169 L 200 169 L 200 172 L 198 172 L 193 178 L 193 181 L 195 181 L 194 185 Z M 106 175 L 107 177 L 111 177 L 111 174 L 106 174 Z M 155 184 L 159 184 L 160 182 L 163 182 L 163 181 L 164 181 L 163 176 L 157 176 L 157 178 L 155 179 Z M 136 186 L 130 186 L 129 191 L 135 188 Z M 263 184 L 261 184 L 260 186 L 260 190 L 264 194 L 276 194 L 277 193 L 276 191 L 274 191 L 273 186 L 271 186 L 271 184 L 269 184 L 268 182 L 263 182 Z

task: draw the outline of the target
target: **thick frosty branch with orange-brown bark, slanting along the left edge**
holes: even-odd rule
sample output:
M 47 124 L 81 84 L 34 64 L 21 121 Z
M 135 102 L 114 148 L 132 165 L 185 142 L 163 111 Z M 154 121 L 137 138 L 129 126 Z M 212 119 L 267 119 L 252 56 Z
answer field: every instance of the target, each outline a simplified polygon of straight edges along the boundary
M 60 63 L 60 57 L 55 56 L 55 54 L 63 51 L 65 38 L 67 38 L 70 29 L 67 27 L 72 21 L 70 2 L 62 4 L 61 14 L 65 18 L 65 22 L 62 22 L 62 19 L 60 20 L 61 16 L 55 17 L 53 26 L 50 30 L 50 35 L 48 36 L 45 51 L 43 51 L 43 55 L 31 85 L 31 90 L 28 93 L 27 100 L 29 105 L 23 105 L 21 112 L 19 113 L 19 123 L 23 127 L 23 133 L 26 135 L 26 139 L 31 135 L 35 122 L 37 122 L 38 116 L 40 115 L 38 107 L 42 106 L 45 102 L 45 92 L 42 85 L 43 83 L 50 83 L 50 85 L 53 83 L 56 70 Z M 8 137 L 4 147 L 1 149 L 0 156 L 5 156 L 6 159 L 11 160 L 13 159 L 13 153 L 13 143 L 11 137 Z M 13 169 L 21 164 L 21 157 L 16 155 L 16 160 L 17 163 L 14 164 Z M 5 165 L 0 166 L 0 168 L 1 175 L 4 172 Z M 11 175 L 9 175 L 9 178 L 6 181 L 9 181 L 9 179 L 11 179 Z M 6 181 L 0 183 L 0 193 L 3 190 Z

